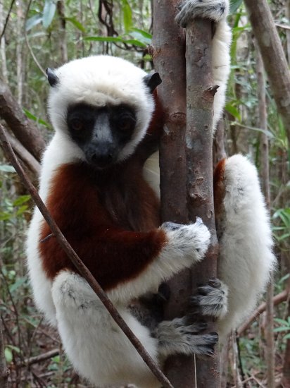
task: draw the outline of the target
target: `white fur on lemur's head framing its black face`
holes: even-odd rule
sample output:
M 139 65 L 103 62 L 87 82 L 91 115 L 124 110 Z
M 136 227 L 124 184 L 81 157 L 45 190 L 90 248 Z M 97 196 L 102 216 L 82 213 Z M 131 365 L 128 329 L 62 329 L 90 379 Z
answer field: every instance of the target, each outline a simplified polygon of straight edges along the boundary
M 152 95 L 143 81 L 145 71 L 124 59 L 99 55 L 65 63 L 55 73 L 59 81 L 51 87 L 49 114 L 56 132 L 68 132 L 66 112 L 70 104 L 129 104 L 135 109 L 137 123 L 119 160 L 132 154 L 146 133 L 154 108 Z

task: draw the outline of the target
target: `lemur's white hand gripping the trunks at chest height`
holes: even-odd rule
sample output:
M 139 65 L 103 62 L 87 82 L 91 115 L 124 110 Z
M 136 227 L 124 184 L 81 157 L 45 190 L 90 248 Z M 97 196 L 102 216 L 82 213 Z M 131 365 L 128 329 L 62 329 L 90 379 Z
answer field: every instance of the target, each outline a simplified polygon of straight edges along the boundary
M 189 225 L 165 222 L 160 228 L 165 231 L 168 240 L 163 254 L 174 260 L 182 258 L 184 267 L 190 267 L 203 259 L 210 243 L 210 232 L 201 218 L 197 217 L 195 224 Z

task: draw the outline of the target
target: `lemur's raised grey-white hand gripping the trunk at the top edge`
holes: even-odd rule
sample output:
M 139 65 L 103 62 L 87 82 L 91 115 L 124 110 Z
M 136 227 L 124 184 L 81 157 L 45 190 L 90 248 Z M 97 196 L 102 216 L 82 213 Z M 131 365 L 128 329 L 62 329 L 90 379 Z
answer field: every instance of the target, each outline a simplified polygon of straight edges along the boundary
M 229 0 L 185 0 L 179 5 L 177 23 L 186 28 L 194 18 L 205 18 L 215 23 L 226 18 L 229 13 Z

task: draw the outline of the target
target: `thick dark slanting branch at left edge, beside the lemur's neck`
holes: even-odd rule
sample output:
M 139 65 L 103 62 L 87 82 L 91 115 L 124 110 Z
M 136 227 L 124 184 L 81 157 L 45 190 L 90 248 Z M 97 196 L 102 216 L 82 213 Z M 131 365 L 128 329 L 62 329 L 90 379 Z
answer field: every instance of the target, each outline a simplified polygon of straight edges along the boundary
M 1 80 L 0 118 L 6 121 L 15 138 L 39 161 L 45 147 L 44 138 L 34 123 L 27 119 L 10 89 Z

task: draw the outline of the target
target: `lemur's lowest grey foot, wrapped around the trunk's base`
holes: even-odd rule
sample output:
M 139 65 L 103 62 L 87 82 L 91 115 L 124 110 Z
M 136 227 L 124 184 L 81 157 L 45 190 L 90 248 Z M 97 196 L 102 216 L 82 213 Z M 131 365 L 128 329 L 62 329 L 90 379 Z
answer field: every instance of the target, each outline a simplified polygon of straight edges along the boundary
M 218 334 L 199 334 L 207 327 L 208 325 L 204 322 L 187 325 L 187 317 L 160 322 L 156 329 L 159 355 L 161 358 L 167 358 L 176 353 L 187 356 L 193 354 L 213 356 Z

